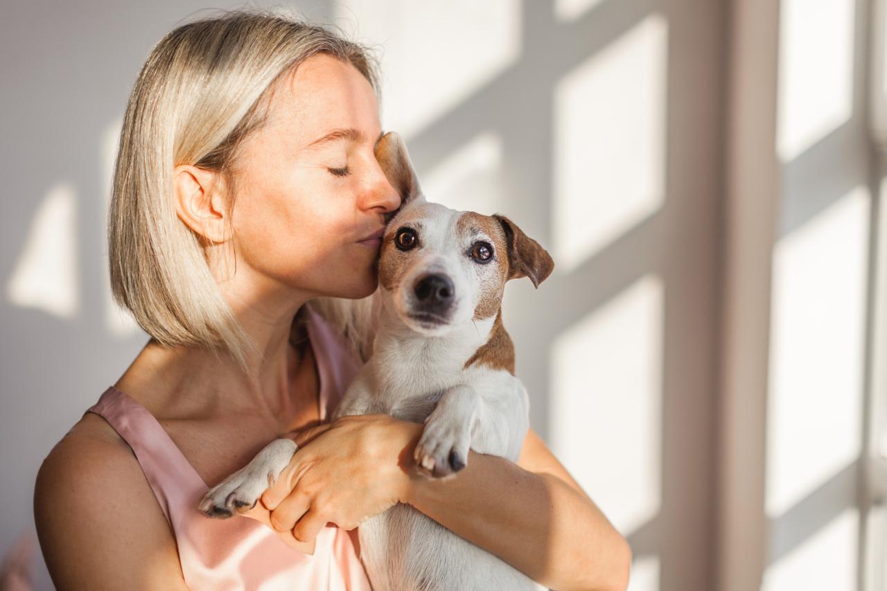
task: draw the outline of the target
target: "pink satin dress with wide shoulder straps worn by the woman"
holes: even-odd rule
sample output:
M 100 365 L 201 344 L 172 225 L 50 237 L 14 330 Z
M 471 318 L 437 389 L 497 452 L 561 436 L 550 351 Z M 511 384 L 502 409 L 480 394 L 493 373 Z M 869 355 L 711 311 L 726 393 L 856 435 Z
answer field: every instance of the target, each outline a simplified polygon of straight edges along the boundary
M 334 410 L 359 362 L 316 312 L 308 335 L 320 374 L 320 419 Z M 328 589 L 369 591 L 358 556 L 357 530 L 327 524 L 313 555 L 290 548 L 267 525 L 249 517 L 211 519 L 197 508 L 209 490 L 160 422 L 121 390 L 109 387 L 87 411 L 105 417 L 136 454 L 176 536 L 185 583 L 192 589 Z

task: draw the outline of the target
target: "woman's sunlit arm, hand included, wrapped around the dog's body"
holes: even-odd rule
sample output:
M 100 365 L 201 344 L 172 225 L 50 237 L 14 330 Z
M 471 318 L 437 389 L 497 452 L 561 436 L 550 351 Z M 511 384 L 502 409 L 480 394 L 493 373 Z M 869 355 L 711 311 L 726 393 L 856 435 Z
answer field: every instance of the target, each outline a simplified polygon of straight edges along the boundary
M 631 549 L 535 433 L 519 458 L 526 469 L 469 452 L 465 469 L 433 480 L 412 460 L 423 427 L 357 414 L 303 429 L 287 468 L 244 515 L 307 543 L 327 522 L 350 530 L 407 502 L 550 587 L 624 590 Z

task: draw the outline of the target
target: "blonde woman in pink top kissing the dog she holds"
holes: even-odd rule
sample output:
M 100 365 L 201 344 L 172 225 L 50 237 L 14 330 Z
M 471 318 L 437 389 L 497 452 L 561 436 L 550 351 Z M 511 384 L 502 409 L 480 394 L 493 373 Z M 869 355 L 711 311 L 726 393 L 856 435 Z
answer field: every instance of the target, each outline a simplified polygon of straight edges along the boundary
M 421 425 L 326 422 L 370 352 L 373 234 L 400 205 L 377 91 L 365 48 L 273 14 L 152 51 L 109 222 L 114 296 L 152 338 L 38 474 L 59 589 L 369 588 L 353 529 L 396 502 L 546 586 L 626 587 L 628 545 L 532 430 L 518 464 L 471 452 L 431 481 L 412 476 Z M 253 519 L 200 514 L 207 483 L 297 429 L 298 473 Z

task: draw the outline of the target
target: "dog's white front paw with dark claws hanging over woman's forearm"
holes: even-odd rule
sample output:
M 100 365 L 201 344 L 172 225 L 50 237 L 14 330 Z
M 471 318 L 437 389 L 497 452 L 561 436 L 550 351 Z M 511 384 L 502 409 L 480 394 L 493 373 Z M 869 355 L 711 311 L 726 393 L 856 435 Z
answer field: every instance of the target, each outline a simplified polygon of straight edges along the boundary
M 466 424 L 428 417 L 419 445 L 412 453 L 416 469 L 431 477 L 445 477 L 466 467 L 471 433 Z

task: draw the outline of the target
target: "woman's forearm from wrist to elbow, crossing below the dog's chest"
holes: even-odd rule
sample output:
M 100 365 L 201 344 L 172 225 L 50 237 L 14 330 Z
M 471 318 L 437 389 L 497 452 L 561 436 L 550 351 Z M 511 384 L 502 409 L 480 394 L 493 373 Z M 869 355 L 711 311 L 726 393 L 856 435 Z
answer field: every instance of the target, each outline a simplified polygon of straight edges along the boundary
M 415 425 L 411 455 L 420 433 Z M 547 587 L 628 586 L 627 542 L 591 500 L 553 475 L 471 451 L 466 468 L 453 477 L 413 476 L 407 500 Z

